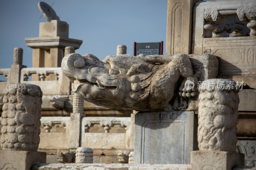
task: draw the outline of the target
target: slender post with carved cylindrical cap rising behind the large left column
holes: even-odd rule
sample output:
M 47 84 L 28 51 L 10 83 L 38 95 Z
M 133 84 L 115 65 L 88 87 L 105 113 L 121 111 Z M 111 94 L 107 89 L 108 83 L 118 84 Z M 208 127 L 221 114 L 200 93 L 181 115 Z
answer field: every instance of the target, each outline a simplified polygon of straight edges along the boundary
M 11 76 L 8 77 L 8 83 L 19 83 L 20 82 L 20 69 L 22 67 L 23 49 L 13 49 L 13 64 L 11 66 Z

